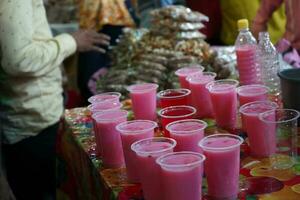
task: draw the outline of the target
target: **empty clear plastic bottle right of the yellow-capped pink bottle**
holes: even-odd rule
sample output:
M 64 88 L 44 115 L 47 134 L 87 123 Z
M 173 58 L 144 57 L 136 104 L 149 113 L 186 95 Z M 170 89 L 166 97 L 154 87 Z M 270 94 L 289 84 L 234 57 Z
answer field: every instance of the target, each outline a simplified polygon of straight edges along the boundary
M 268 32 L 259 33 L 258 55 L 261 81 L 270 88 L 275 101 L 280 100 L 280 80 L 277 73 L 280 70 L 279 54 L 270 40 Z

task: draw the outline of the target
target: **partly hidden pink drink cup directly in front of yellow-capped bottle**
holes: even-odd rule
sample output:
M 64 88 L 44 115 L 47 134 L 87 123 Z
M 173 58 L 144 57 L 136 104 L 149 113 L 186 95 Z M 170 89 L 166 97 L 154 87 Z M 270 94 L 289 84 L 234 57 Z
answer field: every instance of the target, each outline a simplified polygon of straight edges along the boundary
M 268 100 L 268 91 L 268 87 L 259 84 L 240 86 L 237 88 L 240 105 L 253 101 Z

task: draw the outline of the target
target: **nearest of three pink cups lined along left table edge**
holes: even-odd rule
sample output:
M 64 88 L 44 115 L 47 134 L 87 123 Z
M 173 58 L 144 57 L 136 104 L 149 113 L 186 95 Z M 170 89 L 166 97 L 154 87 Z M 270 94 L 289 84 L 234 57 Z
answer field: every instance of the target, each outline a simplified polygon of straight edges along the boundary
M 124 156 L 120 133 L 116 126 L 127 120 L 127 111 L 116 110 L 96 115 L 97 130 L 96 144 L 102 149 L 103 164 L 107 168 L 124 166 Z

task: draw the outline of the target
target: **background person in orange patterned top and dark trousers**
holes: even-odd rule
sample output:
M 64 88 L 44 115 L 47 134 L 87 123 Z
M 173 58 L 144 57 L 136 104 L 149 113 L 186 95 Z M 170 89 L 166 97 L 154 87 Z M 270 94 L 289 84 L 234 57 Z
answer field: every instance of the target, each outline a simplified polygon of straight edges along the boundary
M 95 30 L 110 36 L 111 45 L 116 44 L 116 39 L 122 34 L 124 27 L 134 27 L 128 8 L 130 0 L 78 0 L 79 26 L 84 29 Z M 102 47 L 100 45 L 100 47 Z M 103 48 L 103 47 L 102 47 Z M 105 48 L 105 51 L 108 49 Z M 93 74 L 104 74 L 110 65 L 107 53 L 83 52 L 78 56 L 77 83 L 80 93 L 87 104 L 87 99 L 93 95 L 88 87 L 88 82 Z M 99 74 L 98 73 L 98 74 Z

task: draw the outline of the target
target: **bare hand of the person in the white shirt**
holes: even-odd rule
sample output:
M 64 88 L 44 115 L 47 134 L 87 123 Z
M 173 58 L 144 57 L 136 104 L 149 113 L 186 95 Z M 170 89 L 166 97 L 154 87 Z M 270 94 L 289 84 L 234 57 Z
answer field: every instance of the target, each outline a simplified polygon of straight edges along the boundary
M 98 51 L 105 53 L 105 49 L 99 46 L 108 46 L 110 41 L 108 35 L 93 30 L 79 30 L 72 33 L 72 36 L 76 40 L 77 50 L 80 52 Z

